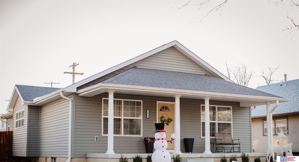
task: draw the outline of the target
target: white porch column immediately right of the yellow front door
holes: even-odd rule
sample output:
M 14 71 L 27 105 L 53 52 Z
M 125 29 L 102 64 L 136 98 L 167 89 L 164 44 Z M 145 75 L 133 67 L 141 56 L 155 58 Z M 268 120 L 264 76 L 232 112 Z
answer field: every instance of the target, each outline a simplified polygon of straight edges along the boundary
M 174 153 L 181 154 L 181 117 L 180 117 L 180 95 L 175 95 L 176 103 L 174 107 L 174 125 L 175 125 L 175 134 L 176 134 L 176 141 L 174 143 Z

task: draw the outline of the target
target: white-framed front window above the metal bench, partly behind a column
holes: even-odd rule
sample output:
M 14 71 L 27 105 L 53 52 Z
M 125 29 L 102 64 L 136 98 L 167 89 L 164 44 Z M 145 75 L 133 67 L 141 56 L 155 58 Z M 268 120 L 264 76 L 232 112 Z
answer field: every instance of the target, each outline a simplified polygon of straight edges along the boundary
M 201 131 L 205 137 L 205 105 L 201 105 Z M 232 133 L 232 107 L 210 106 L 210 137 L 215 133 Z

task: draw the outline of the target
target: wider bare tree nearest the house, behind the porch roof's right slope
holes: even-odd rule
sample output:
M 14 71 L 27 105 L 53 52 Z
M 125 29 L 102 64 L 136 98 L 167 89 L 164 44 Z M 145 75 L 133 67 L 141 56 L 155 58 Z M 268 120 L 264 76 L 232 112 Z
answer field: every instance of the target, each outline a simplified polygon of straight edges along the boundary
M 239 85 L 244 85 L 247 87 L 249 80 L 251 77 L 253 77 L 253 71 L 248 70 L 247 66 L 243 63 L 241 63 L 241 65 L 238 63 L 236 67 L 231 68 L 226 62 L 226 69 L 228 78 L 234 82 L 237 82 Z

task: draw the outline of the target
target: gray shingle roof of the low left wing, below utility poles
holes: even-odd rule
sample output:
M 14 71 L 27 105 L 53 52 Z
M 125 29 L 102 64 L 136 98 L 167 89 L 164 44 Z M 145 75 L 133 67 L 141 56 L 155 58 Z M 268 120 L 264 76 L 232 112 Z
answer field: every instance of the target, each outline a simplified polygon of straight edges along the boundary
M 16 85 L 16 87 L 18 88 L 20 95 L 22 96 L 24 101 L 33 101 L 33 99 L 36 97 L 42 97 L 61 89 L 51 87 L 38 87 L 31 85 Z

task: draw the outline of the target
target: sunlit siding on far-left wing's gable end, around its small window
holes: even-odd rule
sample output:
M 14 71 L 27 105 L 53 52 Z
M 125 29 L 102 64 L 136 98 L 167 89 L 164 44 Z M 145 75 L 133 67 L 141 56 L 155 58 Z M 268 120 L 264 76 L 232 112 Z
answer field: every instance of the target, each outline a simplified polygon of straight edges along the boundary
M 24 109 L 24 127 L 16 129 L 16 112 Z M 13 130 L 13 156 L 23 156 L 27 154 L 27 116 L 28 106 L 22 105 L 22 100 L 18 96 L 13 108 L 13 124 L 10 123 L 10 130 Z M 10 121 L 12 122 L 12 120 Z

